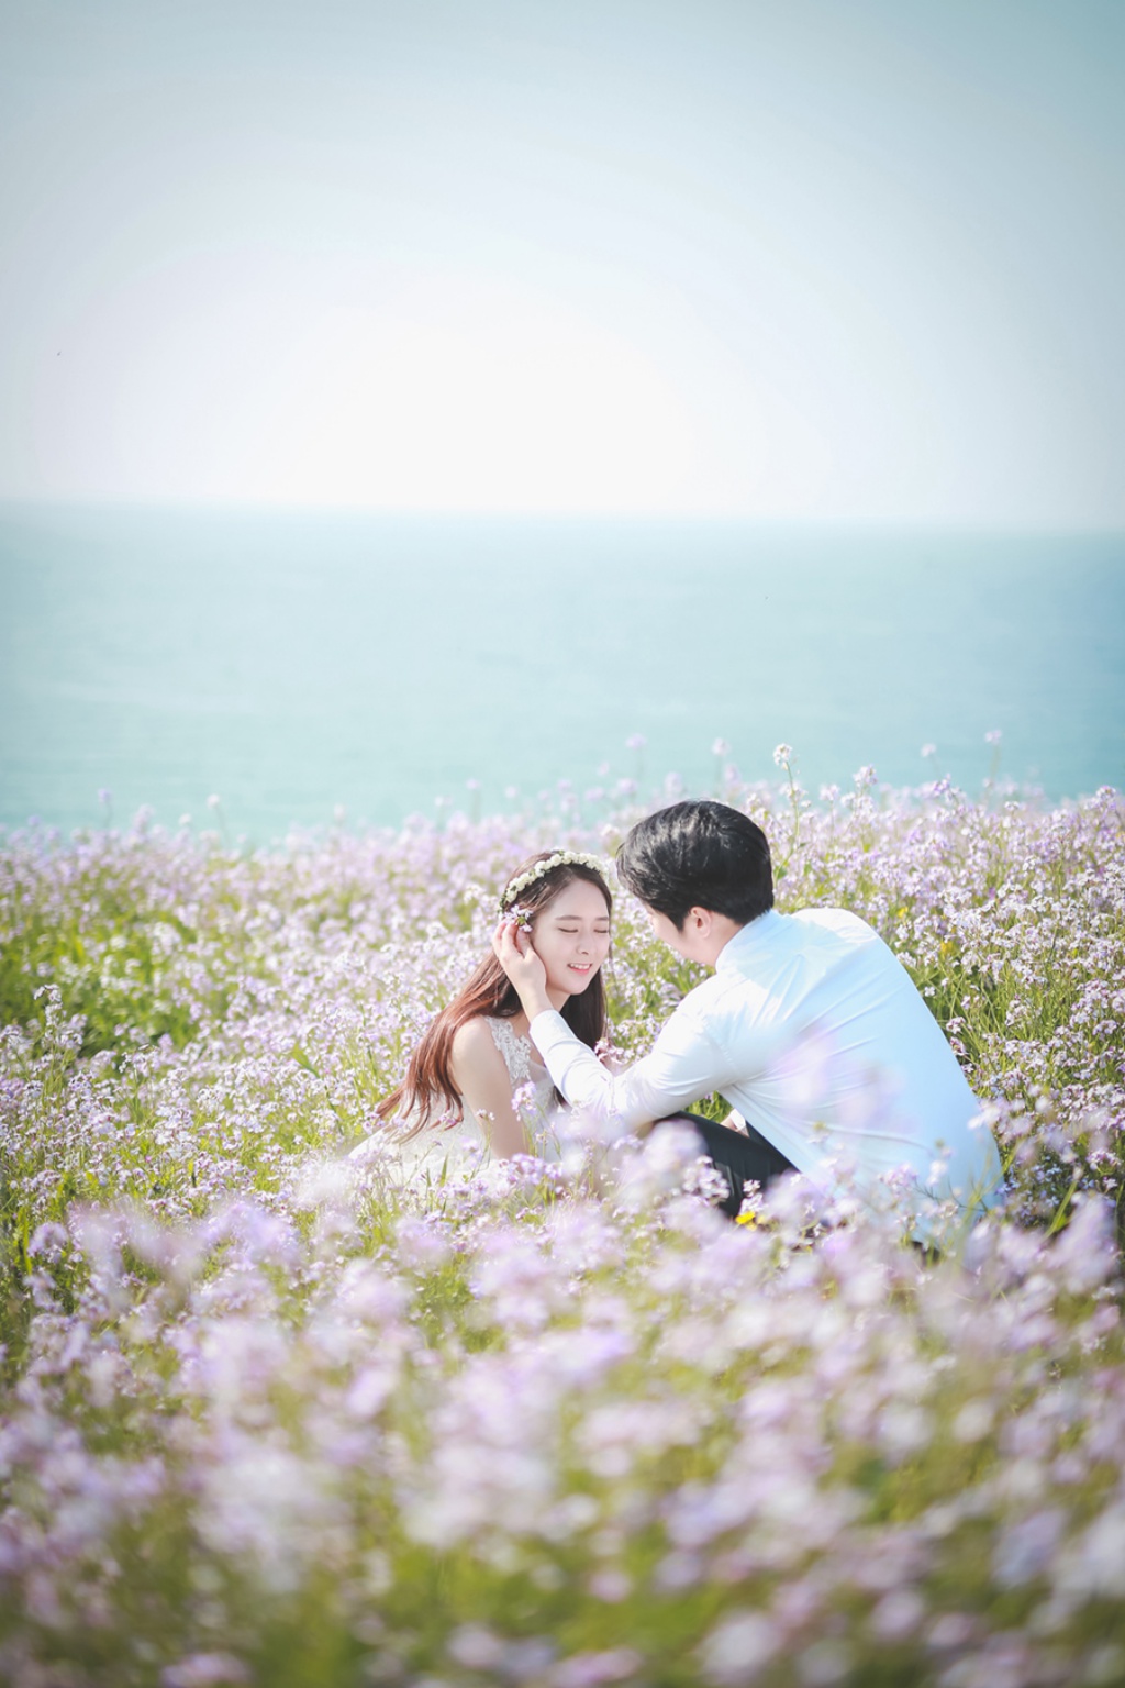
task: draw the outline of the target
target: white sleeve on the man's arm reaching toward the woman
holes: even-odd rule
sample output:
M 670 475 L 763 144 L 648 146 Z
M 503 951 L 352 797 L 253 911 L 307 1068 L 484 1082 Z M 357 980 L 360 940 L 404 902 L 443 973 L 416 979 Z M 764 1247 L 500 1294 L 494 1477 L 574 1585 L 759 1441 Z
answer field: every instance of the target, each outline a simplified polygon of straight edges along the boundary
M 720 1047 L 683 1006 L 651 1053 L 619 1074 L 602 1067 L 555 1009 L 535 1016 L 531 1041 L 570 1106 L 622 1133 L 680 1112 L 732 1077 Z

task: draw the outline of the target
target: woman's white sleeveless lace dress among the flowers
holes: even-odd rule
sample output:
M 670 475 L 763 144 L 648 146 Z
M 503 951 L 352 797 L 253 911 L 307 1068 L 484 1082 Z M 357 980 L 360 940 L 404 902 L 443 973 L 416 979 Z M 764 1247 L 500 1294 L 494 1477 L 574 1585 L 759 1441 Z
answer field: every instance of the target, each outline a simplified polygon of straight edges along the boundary
M 493 1020 L 484 1016 L 484 1025 L 493 1033 L 493 1041 L 499 1050 L 513 1092 L 523 1092 L 519 1114 L 528 1128 L 528 1141 L 533 1155 L 540 1160 L 560 1160 L 560 1144 L 555 1133 L 558 1119 L 558 1102 L 555 1085 L 546 1067 L 538 1058 L 531 1038 L 513 1031 L 509 1020 Z M 364 1138 L 351 1155 L 351 1161 L 379 1163 L 395 1182 L 437 1182 L 450 1155 L 464 1150 L 487 1148 L 487 1134 L 467 1102 L 462 1102 L 464 1117 L 455 1126 L 427 1126 L 417 1136 L 403 1138 L 395 1126 Z M 408 1121 L 401 1123 L 403 1126 Z

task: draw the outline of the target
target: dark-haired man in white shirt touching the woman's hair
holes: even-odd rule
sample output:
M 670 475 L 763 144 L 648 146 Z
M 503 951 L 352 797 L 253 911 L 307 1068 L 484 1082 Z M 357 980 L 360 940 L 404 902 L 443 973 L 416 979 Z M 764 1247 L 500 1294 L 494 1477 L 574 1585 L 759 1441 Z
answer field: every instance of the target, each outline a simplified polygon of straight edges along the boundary
M 526 933 L 496 952 L 557 1087 L 609 1129 L 639 1131 L 712 1090 L 747 1124 L 695 1121 L 730 1183 L 796 1168 L 875 1200 L 889 1175 L 972 1210 L 993 1198 L 1000 1160 L 953 1050 L 906 969 L 857 915 L 774 910 L 766 834 L 727 803 L 688 802 L 638 822 L 617 876 L 676 954 L 713 967 L 649 1055 L 611 1074 L 552 1009 Z

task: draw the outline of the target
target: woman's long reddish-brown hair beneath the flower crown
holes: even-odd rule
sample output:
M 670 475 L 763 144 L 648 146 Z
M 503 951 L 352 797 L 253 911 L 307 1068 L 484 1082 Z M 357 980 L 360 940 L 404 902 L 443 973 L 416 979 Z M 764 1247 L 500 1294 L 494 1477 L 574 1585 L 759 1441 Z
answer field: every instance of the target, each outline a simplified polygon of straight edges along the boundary
M 528 873 L 552 854 L 555 851 L 540 851 L 536 856 L 530 856 L 516 868 L 511 879 L 518 879 L 519 874 Z M 509 885 L 511 879 L 508 881 Z M 606 908 L 612 910 L 612 896 L 604 878 L 597 868 L 589 868 L 582 861 L 563 863 L 558 868 L 552 868 L 540 879 L 533 879 L 531 885 L 519 891 L 519 908 L 535 923 L 535 917 L 541 915 L 573 879 L 585 879 L 589 885 L 595 885 L 606 898 Z M 460 1097 L 454 1087 L 454 1075 L 450 1072 L 450 1055 L 457 1028 L 464 1026 L 467 1020 L 477 1020 L 481 1014 L 487 1014 L 493 1020 L 514 1020 L 518 1013 L 519 996 L 514 984 L 496 955 L 486 955 L 452 1003 L 440 1011 L 423 1033 L 422 1041 L 410 1057 L 406 1077 L 378 1104 L 376 1114 L 379 1119 L 390 1123 L 405 1116 L 408 1124 L 403 1126 L 403 1138 L 413 1138 L 418 1131 L 425 1131 L 432 1123 L 435 1109 L 440 1121 L 447 1119 L 450 1128 L 455 1126 L 462 1117 Z M 594 974 L 585 991 L 567 999 L 562 1016 L 575 1036 L 589 1043 L 590 1048 L 595 1048 L 597 1041 L 606 1036 L 606 986 L 602 984 L 600 969 Z

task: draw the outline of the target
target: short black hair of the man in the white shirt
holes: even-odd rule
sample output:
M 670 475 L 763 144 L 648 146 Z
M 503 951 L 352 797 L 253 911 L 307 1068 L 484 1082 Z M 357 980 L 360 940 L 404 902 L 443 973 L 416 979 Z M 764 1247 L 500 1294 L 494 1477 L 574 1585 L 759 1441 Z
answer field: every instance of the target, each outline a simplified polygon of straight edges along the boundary
M 703 798 L 638 820 L 617 851 L 617 878 L 678 932 L 692 908 L 740 927 L 774 906 L 769 841 L 749 815 Z

